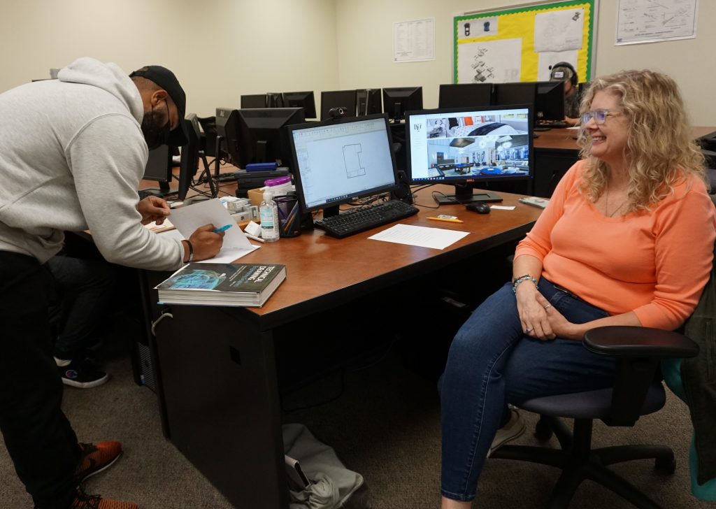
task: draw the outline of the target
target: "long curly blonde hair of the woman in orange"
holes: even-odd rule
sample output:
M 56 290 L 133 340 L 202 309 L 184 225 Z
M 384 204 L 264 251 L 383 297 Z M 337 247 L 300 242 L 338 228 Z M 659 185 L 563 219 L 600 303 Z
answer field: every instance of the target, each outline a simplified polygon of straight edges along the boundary
M 591 109 L 596 92 L 619 100 L 627 118 L 624 160 L 629 170 L 627 212 L 648 210 L 689 175 L 705 179 L 704 156 L 692 140 L 679 87 L 659 72 L 622 71 L 594 79 L 581 100 L 580 114 Z M 609 166 L 591 155 L 591 138 L 579 133 L 580 155 L 586 159 L 582 191 L 591 201 L 606 189 Z

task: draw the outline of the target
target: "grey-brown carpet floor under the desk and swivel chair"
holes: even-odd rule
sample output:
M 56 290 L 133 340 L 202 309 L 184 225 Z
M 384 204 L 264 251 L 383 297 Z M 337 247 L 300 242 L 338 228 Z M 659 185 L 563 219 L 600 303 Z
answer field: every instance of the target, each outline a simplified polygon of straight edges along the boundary
M 107 472 L 87 483 L 89 493 L 132 500 L 142 509 L 231 508 L 202 475 L 165 441 L 160 430 L 156 397 L 132 382 L 130 362 L 122 355 L 110 359 L 112 375 L 95 389 L 65 390 L 64 411 L 80 440 L 122 441 L 125 455 Z M 340 377 L 327 379 L 323 392 L 338 391 Z M 302 422 L 314 435 L 332 445 L 347 467 L 362 473 L 364 488 L 349 502 L 360 509 L 435 509 L 440 505 L 440 420 L 435 386 L 390 357 L 370 367 L 348 372 L 344 392 L 318 407 L 287 412 L 285 422 Z M 329 394 L 306 387 L 284 398 L 284 407 L 321 402 Z M 528 430 L 534 416 L 526 416 Z M 669 397 L 666 409 L 642 418 L 633 430 L 596 426 L 596 445 L 660 442 L 673 447 L 677 472 L 654 473 L 648 461 L 619 465 L 616 470 L 650 493 L 664 508 L 707 508 L 690 495 L 687 437 L 691 427 L 687 409 Z M 527 432 L 516 443 L 534 443 Z M 552 445 L 555 439 L 552 439 Z M 539 508 L 556 480 L 550 467 L 492 460 L 480 479 L 474 508 Z M 0 508 L 32 508 L 0 447 Z M 574 508 L 627 508 L 629 504 L 599 485 L 584 483 Z M 241 508 L 261 509 L 261 508 Z

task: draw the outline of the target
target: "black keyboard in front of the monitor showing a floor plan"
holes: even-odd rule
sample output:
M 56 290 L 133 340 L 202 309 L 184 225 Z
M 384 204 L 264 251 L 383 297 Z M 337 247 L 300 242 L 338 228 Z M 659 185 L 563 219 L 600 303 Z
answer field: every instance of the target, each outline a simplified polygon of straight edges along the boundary
M 314 225 L 326 235 L 344 238 L 354 233 L 382 226 L 417 214 L 417 208 L 400 200 L 390 200 L 376 205 L 347 210 L 329 218 L 316 220 Z

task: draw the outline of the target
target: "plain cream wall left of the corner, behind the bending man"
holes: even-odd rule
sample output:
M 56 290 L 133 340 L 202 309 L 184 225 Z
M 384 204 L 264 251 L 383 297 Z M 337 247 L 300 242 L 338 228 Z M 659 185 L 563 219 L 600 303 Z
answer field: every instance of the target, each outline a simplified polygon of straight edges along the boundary
M 338 88 L 333 0 L 0 0 L 0 91 L 77 57 L 171 69 L 187 111 Z

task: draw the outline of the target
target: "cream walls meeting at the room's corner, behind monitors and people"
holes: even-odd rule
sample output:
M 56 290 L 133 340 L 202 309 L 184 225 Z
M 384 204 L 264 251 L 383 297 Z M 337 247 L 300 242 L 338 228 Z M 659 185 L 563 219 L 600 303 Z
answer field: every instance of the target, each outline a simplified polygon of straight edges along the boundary
M 172 69 L 187 110 L 238 107 L 240 94 L 422 85 L 425 107 L 452 79 L 452 19 L 519 0 L 0 0 L 0 91 L 80 56 Z M 614 46 L 617 0 L 600 0 L 595 74 L 659 69 L 677 79 L 694 125 L 716 125 L 716 1 L 697 38 Z M 434 17 L 431 62 L 394 64 L 392 24 Z

